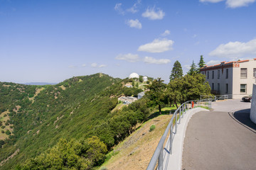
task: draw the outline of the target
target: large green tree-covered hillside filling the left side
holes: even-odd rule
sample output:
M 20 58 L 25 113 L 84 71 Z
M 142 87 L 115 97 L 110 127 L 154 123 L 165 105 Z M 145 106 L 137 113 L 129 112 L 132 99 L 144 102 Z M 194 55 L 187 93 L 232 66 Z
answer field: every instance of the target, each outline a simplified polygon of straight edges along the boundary
M 117 96 L 136 96 L 142 91 L 125 87 L 128 81 L 93 74 L 46 86 L 0 82 L 0 131 L 4 131 L 0 135 L 0 144 L 3 145 L 0 148 L 0 169 L 15 169 L 16 166 L 31 169 L 31 162 L 46 160 L 50 153 L 58 153 L 55 150 L 63 148 L 63 143 L 86 146 L 87 150 L 75 154 L 75 157 L 82 158 L 79 160 L 84 169 L 100 164 L 104 159 L 100 154 L 87 157 L 92 155 L 88 152 L 94 146 L 93 142 L 99 140 L 102 148 L 105 146 L 110 150 L 133 131 L 138 121 L 149 115 L 145 99 L 111 112 L 117 106 Z M 8 138 L 4 140 L 5 137 Z M 13 157 L 10 159 L 10 156 Z M 23 166 L 24 163 L 27 166 Z M 68 165 L 55 168 L 48 165 L 43 169 L 49 167 L 69 169 Z

